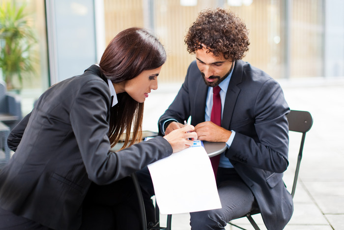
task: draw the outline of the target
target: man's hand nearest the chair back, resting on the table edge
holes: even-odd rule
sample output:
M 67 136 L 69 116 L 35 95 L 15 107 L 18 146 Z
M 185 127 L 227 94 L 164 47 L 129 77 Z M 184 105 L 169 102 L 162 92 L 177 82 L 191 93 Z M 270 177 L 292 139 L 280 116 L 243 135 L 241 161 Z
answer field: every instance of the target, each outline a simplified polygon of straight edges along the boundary
M 195 127 L 199 140 L 206 140 L 211 142 L 227 142 L 230 134 L 229 130 L 226 130 L 220 126 L 215 125 L 211 121 L 206 121 L 198 124 Z

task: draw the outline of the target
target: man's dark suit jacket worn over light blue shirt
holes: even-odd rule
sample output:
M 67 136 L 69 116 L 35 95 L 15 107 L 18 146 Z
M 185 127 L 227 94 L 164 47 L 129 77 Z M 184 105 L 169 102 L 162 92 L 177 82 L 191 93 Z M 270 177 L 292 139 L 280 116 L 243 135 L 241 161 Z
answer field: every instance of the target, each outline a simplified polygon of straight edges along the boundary
M 196 62 L 191 63 L 177 96 L 159 119 L 191 124 L 204 122 L 208 87 Z M 289 107 L 280 85 L 265 72 L 236 61 L 223 108 L 222 127 L 235 131 L 225 156 L 252 190 L 265 226 L 283 229 L 293 211 L 291 195 L 282 181 L 288 165 Z

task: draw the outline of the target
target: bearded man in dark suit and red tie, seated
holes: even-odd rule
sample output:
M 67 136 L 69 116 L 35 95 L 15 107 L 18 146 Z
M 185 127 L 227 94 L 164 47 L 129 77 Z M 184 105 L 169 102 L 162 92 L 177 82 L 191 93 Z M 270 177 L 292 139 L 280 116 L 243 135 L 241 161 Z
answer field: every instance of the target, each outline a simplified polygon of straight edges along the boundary
M 185 43 L 196 61 L 160 117 L 159 132 L 179 129 L 191 116 L 200 140 L 227 143 L 227 150 L 211 159 L 222 208 L 190 213 L 191 228 L 224 229 L 230 220 L 259 208 L 267 229 L 282 230 L 293 203 L 282 180 L 289 107 L 280 85 L 241 61 L 250 44 L 248 31 L 228 10 L 202 11 Z

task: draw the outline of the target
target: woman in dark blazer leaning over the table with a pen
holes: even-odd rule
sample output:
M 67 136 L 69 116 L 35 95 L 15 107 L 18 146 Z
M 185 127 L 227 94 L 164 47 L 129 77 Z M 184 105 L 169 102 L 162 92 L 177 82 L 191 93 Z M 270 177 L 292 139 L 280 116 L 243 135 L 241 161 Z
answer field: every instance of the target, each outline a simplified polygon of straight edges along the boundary
M 134 144 L 141 139 L 143 102 L 157 89 L 165 61 L 156 37 L 127 29 L 110 42 L 99 66 L 38 99 L 8 137 L 15 153 L 0 172 L 0 229 L 139 228 L 127 176 L 197 138 L 187 126 Z M 130 147 L 111 152 L 123 132 Z

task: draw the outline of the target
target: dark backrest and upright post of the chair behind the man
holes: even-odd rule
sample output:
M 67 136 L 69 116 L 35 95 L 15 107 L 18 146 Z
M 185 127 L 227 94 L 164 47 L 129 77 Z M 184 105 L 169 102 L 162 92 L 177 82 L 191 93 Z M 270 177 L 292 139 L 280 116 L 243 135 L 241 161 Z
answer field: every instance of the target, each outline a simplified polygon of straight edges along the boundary
M 308 132 L 312 128 L 313 118 L 312 118 L 312 115 L 307 111 L 290 110 L 290 113 L 287 115 L 287 120 L 289 123 L 289 131 L 302 133 L 300 150 L 297 157 L 294 181 L 293 181 L 293 186 L 291 190 L 291 195 L 292 197 L 294 197 L 297 178 L 299 175 L 300 164 L 301 164 L 301 159 L 302 159 L 303 146 L 305 143 L 306 132 Z

